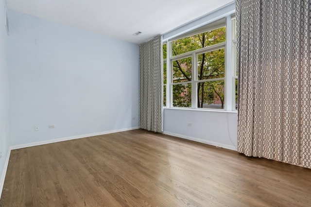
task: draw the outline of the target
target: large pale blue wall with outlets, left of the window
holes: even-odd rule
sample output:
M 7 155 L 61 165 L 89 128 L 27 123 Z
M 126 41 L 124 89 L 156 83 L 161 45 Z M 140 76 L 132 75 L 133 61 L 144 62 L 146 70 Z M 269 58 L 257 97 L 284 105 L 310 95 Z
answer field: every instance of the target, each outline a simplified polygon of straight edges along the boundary
M 138 127 L 138 45 L 12 10 L 9 20 L 11 146 Z

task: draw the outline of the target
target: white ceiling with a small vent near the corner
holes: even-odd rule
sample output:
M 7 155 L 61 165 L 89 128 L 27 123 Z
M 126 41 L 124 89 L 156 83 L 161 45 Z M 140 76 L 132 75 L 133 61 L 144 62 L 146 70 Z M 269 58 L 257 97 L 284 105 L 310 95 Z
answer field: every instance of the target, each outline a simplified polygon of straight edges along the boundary
M 142 43 L 233 0 L 7 0 L 35 17 Z M 136 32 L 142 32 L 134 36 Z

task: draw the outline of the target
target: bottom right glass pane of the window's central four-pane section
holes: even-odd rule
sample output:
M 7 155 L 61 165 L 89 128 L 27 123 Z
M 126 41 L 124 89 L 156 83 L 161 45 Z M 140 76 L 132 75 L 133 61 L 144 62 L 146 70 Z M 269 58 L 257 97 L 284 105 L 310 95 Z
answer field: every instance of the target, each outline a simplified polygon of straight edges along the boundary
M 225 104 L 225 81 L 198 83 L 198 108 L 223 109 Z

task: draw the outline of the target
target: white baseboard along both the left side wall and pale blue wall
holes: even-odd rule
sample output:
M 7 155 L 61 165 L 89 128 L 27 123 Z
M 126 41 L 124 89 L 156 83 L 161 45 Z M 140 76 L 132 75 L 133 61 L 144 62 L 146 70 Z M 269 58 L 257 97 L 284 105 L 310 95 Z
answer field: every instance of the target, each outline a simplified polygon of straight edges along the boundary
M 86 135 L 77 135 L 77 136 L 72 136 L 72 137 L 67 137 L 67 138 L 57 138 L 57 139 L 50 139 L 46 141 L 38 141 L 38 142 L 32 142 L 28 144 L 20 144 L 20 145 L 15 145 L 11 146 L 8 151 L 8 155 L 6 156 L 6 160 L 4 163 L 4 168 L 1 174 L 1 179 L 0 179 L 0 198 L 3 190 L 3 185 L 4 185 L 4 180 L 5 180 L 5 175 L 6 171 L 9 165 L 9 160 L 10 160 L 10 155 L 11 155 L 11 150 L 17 150 L 25 147 L 34 147 L 38 145 L 43 145 L 43 144 L 51 144 L 59 141 L 67 141 L 71 139 L 78 139 L 78 138 L 87 138 L 87 137 L 94 137 L 94 136 L 99 136 L 99 135 L 106 135 L 106 134 L 111 134 L 111 133 L 116 133 L 116 132 L 124 132 L 124 131 L 130 131 L 134 129 L 139 129 L 139 127 L 132 127 L 132 128 L 126 128 L 126 129 L 118 129 L 118 130 L 112 130 L 112 131 L 106 131 L 106 132 L 97 132 L 97 133 L 92 133 L 92 134 L 86 134 Z

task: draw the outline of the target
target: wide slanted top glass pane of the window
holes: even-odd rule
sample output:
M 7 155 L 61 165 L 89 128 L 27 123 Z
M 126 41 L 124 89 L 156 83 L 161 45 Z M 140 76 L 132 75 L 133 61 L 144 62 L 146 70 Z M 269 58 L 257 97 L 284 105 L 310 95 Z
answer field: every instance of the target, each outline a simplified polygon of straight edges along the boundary
M 183 54 L 221 42 L 225 42 L 225 27 L 173 41 L 172 55 Z

